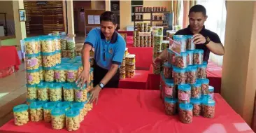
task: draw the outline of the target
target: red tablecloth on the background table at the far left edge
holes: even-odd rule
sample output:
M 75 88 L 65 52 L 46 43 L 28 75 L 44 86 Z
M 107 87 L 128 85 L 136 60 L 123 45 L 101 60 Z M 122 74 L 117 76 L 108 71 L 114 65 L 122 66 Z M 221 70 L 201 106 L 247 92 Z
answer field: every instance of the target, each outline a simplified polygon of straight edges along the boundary
M 0 70 L 14 66 L 15 70 L 19 69 L 21 62 L 15 46 L 0 47 Z

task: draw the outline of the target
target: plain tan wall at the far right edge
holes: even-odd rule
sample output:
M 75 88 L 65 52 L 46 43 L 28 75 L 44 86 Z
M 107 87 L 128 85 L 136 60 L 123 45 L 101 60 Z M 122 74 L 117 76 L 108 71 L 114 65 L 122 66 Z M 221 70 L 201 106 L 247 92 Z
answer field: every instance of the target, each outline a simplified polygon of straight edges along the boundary
M 227 1 L 221 94 L 248 125 L 253 116 L 256 90 L 255 36 L 256 2 Z

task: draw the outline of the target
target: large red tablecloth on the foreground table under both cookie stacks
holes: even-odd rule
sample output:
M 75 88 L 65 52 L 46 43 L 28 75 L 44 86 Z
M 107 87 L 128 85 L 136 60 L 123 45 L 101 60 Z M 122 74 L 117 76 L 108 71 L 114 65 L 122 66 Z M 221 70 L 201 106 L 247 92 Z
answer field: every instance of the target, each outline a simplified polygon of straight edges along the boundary
M 76 132 L 94 133 L 199 133 L 253 132 L 246 122 L 215 94 L 215 118 L 194 117 L 192 124 L 183 124 L 178 116 L 166 116 L 164 104 L 157 90 L 104 89 Z M 15 132 L 68 132 L 52 130 L 50 123 L 28 123 L 15 126 L 13 120 L 0 127 L 0 131 Z

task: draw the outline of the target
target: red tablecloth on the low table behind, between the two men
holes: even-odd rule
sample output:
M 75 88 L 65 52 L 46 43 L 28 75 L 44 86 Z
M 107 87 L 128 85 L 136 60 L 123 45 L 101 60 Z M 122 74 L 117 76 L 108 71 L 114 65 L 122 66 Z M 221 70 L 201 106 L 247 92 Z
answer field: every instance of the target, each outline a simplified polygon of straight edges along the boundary
M 148 89 L 148 73 L 149 71 L 135 70 L 134 77 L 119 80 L 119 87 L 129 89 Z

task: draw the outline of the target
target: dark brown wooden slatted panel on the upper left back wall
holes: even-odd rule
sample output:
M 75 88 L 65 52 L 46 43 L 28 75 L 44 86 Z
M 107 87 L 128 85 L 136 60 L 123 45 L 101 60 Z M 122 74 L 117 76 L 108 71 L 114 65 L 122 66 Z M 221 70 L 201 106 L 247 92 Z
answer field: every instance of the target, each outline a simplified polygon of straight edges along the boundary
M 64 31 L 63 1 L 24 1 L 27 34 L 49 34 Z

